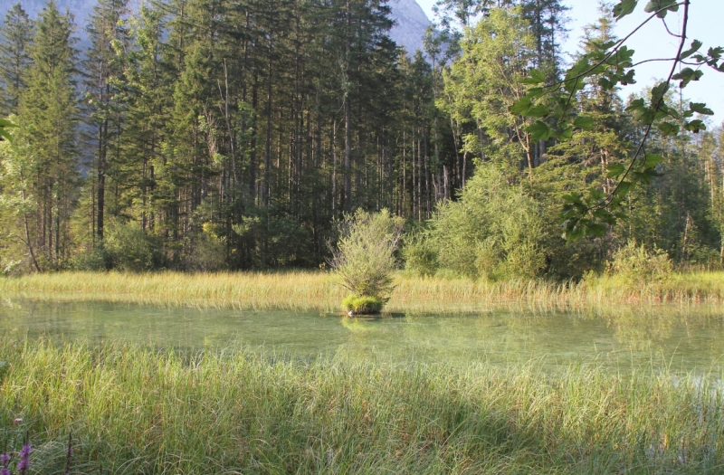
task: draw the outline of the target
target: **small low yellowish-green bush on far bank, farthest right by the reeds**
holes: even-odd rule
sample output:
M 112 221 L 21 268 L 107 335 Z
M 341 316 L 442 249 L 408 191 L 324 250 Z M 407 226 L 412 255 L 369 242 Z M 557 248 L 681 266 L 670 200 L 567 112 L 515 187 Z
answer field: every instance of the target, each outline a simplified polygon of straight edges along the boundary
M 628 283 L 652 283 L 671 278 L 673 266 L 666 252 L 656 247 L 650 251 L 632 241 L 614 253 L 608 271 Z

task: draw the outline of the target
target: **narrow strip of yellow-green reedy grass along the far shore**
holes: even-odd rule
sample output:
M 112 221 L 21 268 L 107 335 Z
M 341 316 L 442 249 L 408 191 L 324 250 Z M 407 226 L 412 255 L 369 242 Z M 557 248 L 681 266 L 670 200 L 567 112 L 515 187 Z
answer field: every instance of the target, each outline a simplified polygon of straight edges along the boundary
M 724 272 L 672 274 L 662 282 L 598 277 L 580 283 L 504 282 L 396 275 L 388 311 L 475 311 L 497 306 L 579 309 L 612 304 L 724 303 Z M 337 311 L 347 292 L 329 273 L 185 274 L 159 272 L 33 274 L 0 278 L 0 293 L 32 299 L 109 301 L 219 309 Z

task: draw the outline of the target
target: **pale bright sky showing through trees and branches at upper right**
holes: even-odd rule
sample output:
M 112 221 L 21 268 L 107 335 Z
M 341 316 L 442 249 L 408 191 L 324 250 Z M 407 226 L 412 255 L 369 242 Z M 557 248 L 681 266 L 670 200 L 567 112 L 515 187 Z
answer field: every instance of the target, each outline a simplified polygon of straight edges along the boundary
M 435 1 L 417 0 L 431 20 Z M 643 12 L 645 3 L 643 0 L 640 1 L 633 14 L 624 17 L 619 24 L 616 24 L 615 33 L 619 37 L 624 37 L 643 22 L 648 15 Z M 563 4 L 570 7 L 567 24 L 569 32 L 564 50 L 567 53 L 575 53 L 584 26 L 595 23 L 599 16 L 598 2 L 595 0 L 564 0 Z M 672 29 L 681 24 L 680 14 L 669 14 L 666 18 Z M 701 48 L 702 52 L 706 52 L 712 46 L 724 47 L 724 26 L 721 24 L 721 18 L 724 18 L 724 1 L 691 0 L 689 33 L 687 33 L 690 40 L 687 47 L 694 39 L 704 43 Z M 633 61 L 640 62 L 653 58 L 672 58 L 678 49 L 676 40 L 677 38 L 666 33 L 661 21 L 653 20 L 635 33 L 626 44 L 635 51 Z M 671 67 L 670 62 L 650 62 L 637 66 L 637 83 L 625 87 L 622 90 L 622 96 L 627 97 L 629 94 L 652 86 L 655 79 L 668 77 Z M 694 102 L 706 102 L 715 113 L 711 119 L 711 125 L 722 124 L 724 122 L 724 72 L 714 71 L 707 67 L 704 69 L 704 76 L 700 81 L 691 82 L 686 87 L 684 98 Z

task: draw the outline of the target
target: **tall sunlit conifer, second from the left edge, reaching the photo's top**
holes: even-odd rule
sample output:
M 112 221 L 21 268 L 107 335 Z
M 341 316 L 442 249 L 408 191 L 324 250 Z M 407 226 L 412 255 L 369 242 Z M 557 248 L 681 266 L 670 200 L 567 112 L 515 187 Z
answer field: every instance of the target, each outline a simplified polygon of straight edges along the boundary
M 56 269 L 71 255 L 69 218 L 78 185 L 78 107 L 72 80 L 76 52 L 71 32 L 71 15 L 60 14 L 51 0 L 36 24 L 33 65 L 18 114 L 17 153 L 29 164 L 25 191 L 37 204 L 34 247 Z

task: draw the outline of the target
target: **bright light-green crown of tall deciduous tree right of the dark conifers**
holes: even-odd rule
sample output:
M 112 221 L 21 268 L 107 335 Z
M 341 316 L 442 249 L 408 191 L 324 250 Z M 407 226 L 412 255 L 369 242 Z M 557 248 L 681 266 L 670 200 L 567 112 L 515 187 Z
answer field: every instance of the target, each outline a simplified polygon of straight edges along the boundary
M 529 140 L 524 138 L 527 128 L 548 126 L 519 114 L 523 109 L 535 117 L 547 114 L 533 108 L 528 98 L 516 100 L 524 93 L 519 81 L 535 55 L 535 38 L 519 8 L 493 9 L 465 31 L 462 56 L 445 72 L 445 94 L 437 105 L 453 121 L 474 124 L 462 137 L 466 152 L 506 159 L 511 165 L 518 165 L 521 151 L 530 154 Z M 538 71 L 536 77 L 545 79 Z M 480 130 L 485 138 L 479 136 Z M 531 160 L 529 165 L 533 166 Z

